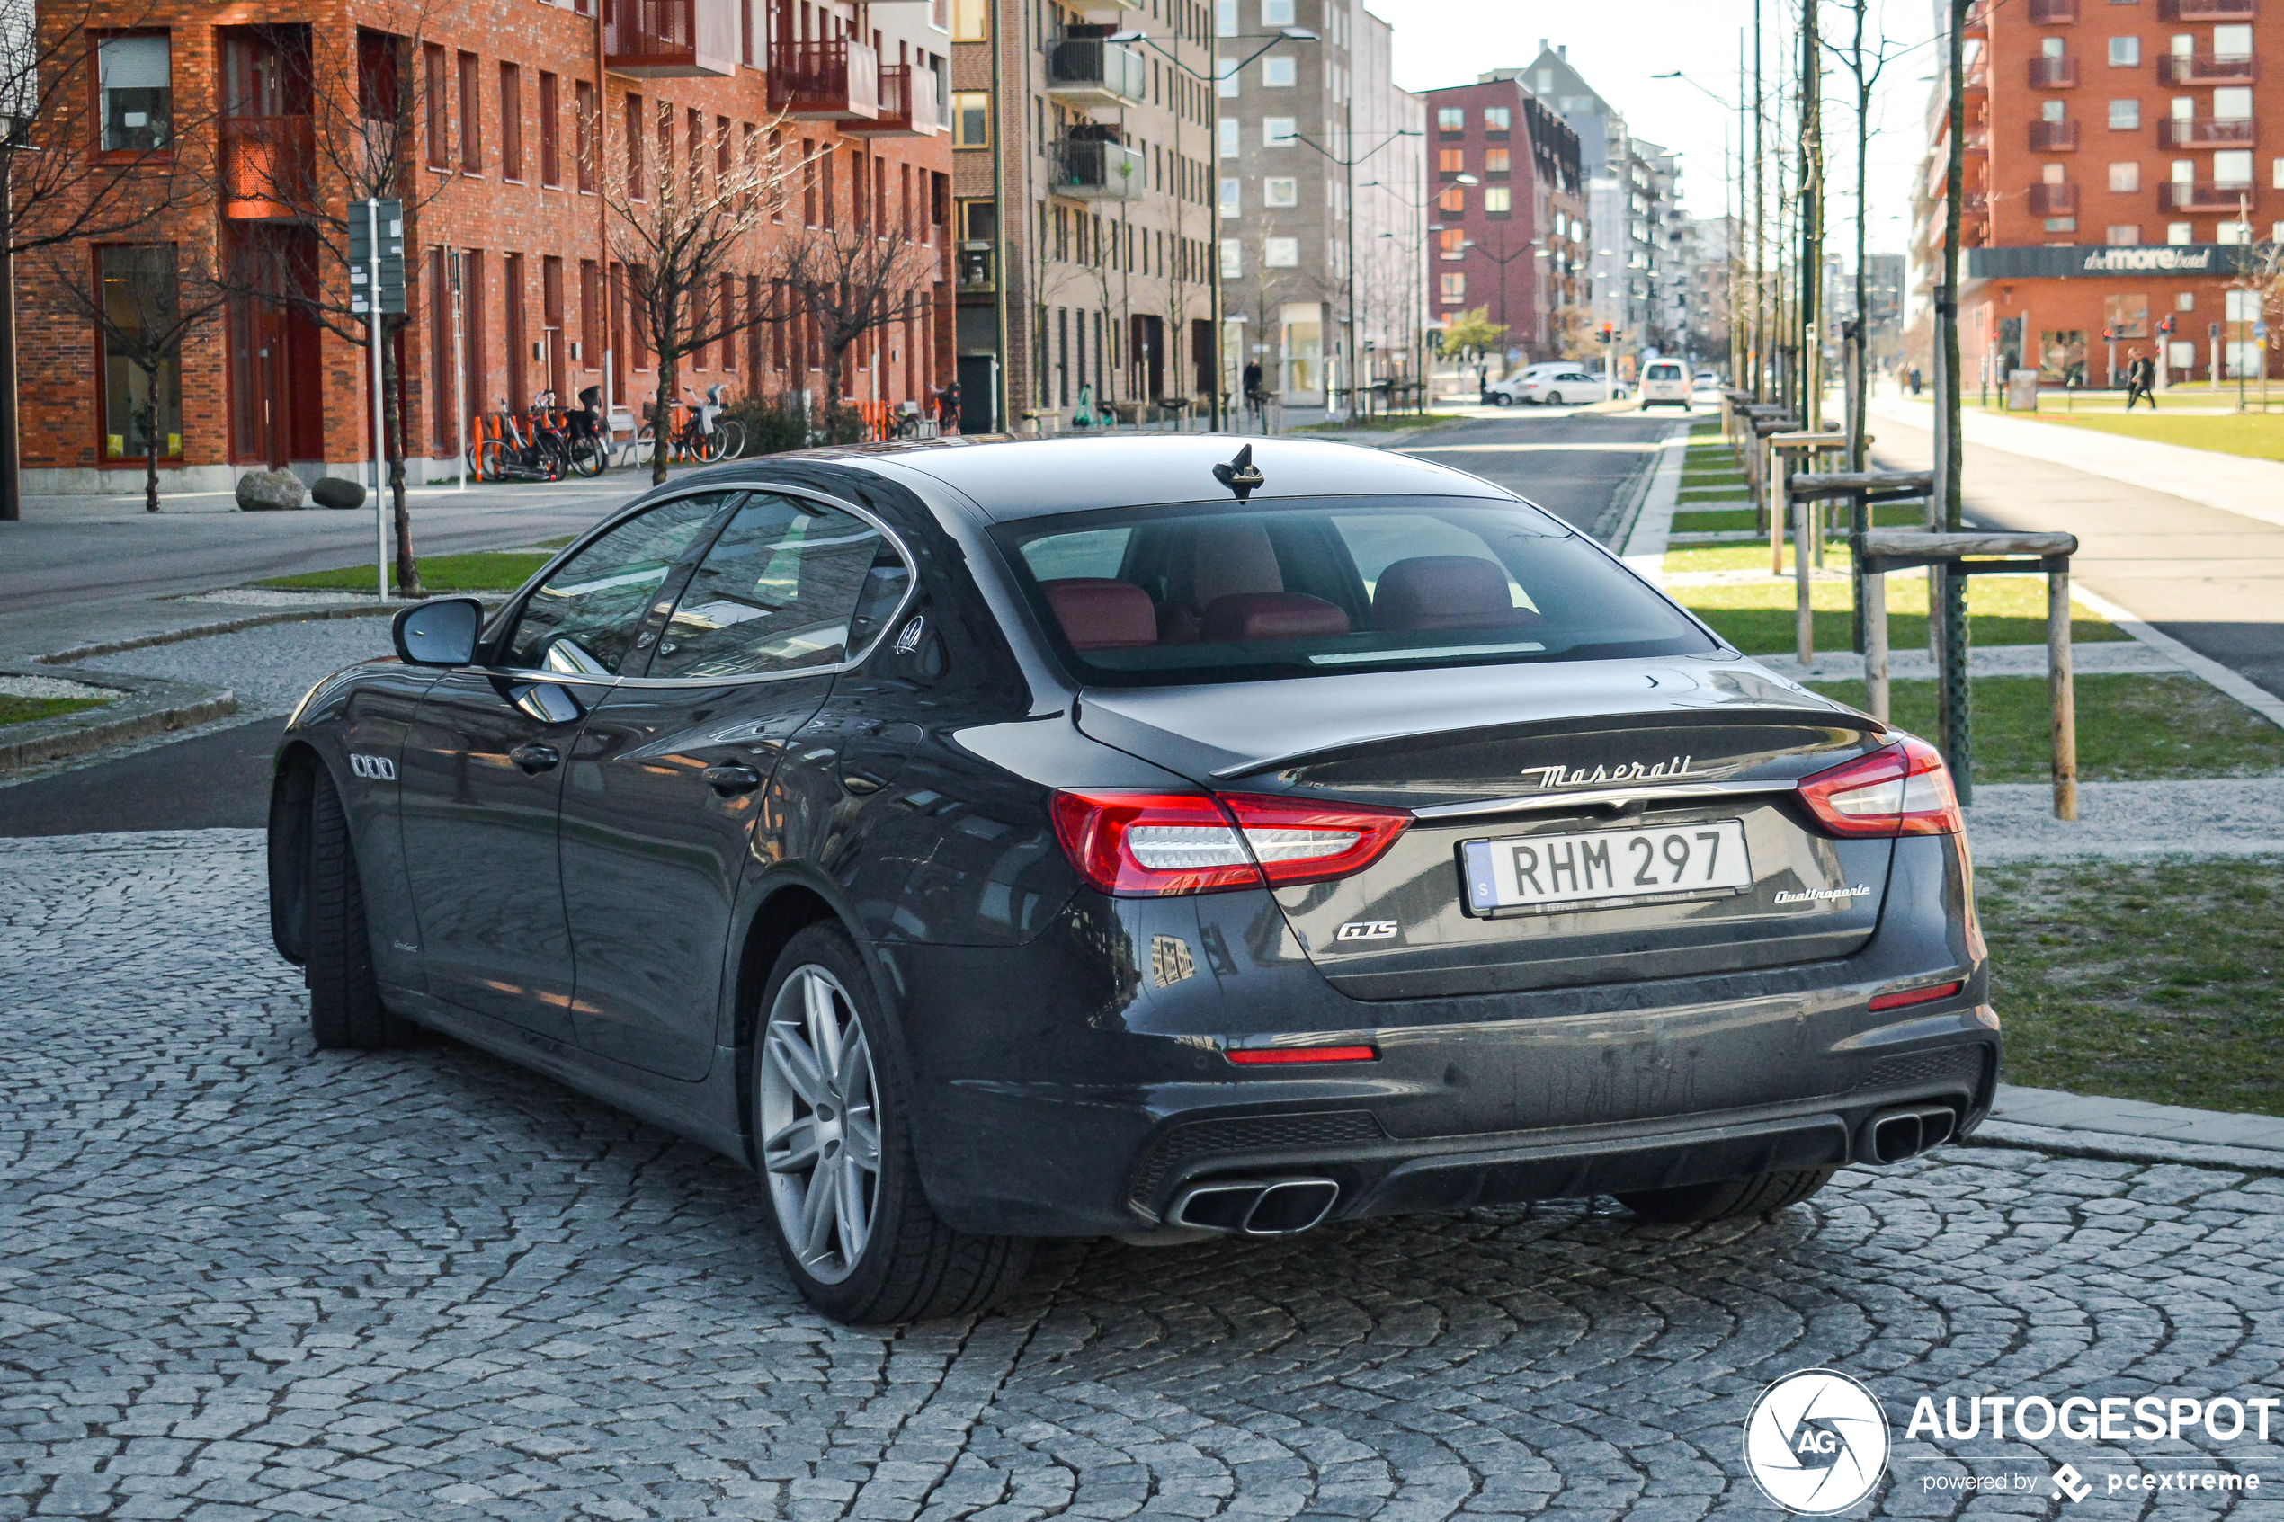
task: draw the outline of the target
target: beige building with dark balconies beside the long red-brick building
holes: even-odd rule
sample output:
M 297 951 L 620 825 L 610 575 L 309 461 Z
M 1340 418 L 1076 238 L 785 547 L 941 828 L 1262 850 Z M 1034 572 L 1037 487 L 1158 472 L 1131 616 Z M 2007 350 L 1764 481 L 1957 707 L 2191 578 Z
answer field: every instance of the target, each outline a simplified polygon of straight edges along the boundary
M 1083 395 L 1211 406 L 1211 25 L 1206 0 L 952 0 L 968 431 Z

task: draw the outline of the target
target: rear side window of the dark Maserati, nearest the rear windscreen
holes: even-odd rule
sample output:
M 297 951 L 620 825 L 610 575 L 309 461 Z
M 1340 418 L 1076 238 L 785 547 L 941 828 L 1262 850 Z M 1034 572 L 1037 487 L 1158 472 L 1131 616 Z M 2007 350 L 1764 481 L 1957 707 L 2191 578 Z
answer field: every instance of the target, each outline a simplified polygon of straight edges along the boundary
M 756 493 L 683 589 L 649 675 L 836 666 L 879 632 L 907 584 L 904 561 L 863 518 Z

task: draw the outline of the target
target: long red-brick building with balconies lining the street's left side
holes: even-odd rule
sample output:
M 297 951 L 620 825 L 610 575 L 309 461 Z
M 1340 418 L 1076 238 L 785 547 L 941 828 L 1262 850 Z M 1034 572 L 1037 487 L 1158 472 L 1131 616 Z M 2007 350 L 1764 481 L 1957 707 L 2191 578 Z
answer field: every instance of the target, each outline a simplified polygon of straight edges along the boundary
M 601 2 L 601 11 L 596 5 Z M 215 194 L 169 212 L 135 246 L 73 246 L 98 278 L 132 278 L 155 249 L 263 246 L 333 301 L 313 224 L 340 217 L 340 139 L 409 119 L 407 313 L 400 399 L 409 477 L 457 468 L 468 413 L 523 408 L 605 386 L 656 392 L 649 340 L 612 258 L 603 183 L 740 153 L 806 164 L 779 219 L 747 240 L 717 299 L 781 310 L 763 288 L 770 240 L 802 224 L 909 228 L 927 274 L 911 322 L 861 340 L 850 399 L 925 399 L 950 372 L 950 148 L 943 135 L 948 18 L 936 5 L 827 0 L 347 0 L 121 7 L 132 30 L 91 32 L 87 116 L 57 123 L 59 151 L 212 162 Z M 180 123 L 180 141 L 169 141 Z M 331 135 L 331 137 L 329 137 Z M 767 144 L 767 148 L 763 148 Z M 151 173 L 160 173 L 153 167 Z M 304 208 L 279 185 L 306 185 Z M 452 274 L 459 274 L 455 292 Z M 27 491 L 110 491 L 139 468 L 126 413 L 139 379 L 94 326 L 18 269 Z M 822 397 L 813 324 L 772 322 L 683 361 L 685 381 Z M 370 459 L 363 351 L 308 317 L 258 301 L 190 340 L 162 377 L 169 488 L 224 488 L 288 465 L 356 475 Z M 164 395 L 176 386 L 178 397 Z

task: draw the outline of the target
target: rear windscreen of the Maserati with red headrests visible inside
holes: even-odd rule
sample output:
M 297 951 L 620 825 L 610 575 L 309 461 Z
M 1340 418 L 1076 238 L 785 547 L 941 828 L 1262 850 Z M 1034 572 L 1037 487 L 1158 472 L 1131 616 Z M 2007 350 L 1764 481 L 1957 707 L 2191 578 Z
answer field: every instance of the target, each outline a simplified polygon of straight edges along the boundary
M 1619 659 L 1718 648 L 1521 502 L 1325 497 L 1030 518 L 994 532 L 1089 682 Z

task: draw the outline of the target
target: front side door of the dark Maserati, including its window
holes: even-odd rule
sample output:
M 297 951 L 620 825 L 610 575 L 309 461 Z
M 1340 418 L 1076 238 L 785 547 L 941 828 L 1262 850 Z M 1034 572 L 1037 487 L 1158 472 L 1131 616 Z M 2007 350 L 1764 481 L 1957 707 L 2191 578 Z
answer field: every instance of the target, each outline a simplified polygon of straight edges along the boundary
M 719 507 L 662 502 L 582 545 L 516 605 L 486 664 L 445 671 L 420 701 L 397 771 L 420 965 L 439 999 L 573 1041 L 562 762 Z

